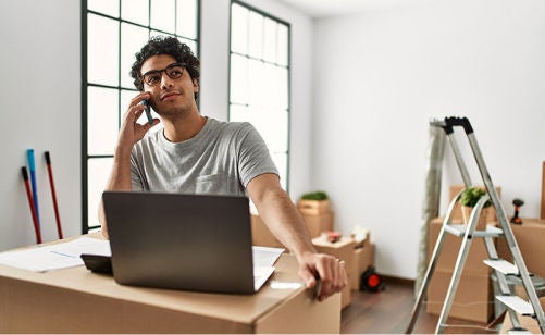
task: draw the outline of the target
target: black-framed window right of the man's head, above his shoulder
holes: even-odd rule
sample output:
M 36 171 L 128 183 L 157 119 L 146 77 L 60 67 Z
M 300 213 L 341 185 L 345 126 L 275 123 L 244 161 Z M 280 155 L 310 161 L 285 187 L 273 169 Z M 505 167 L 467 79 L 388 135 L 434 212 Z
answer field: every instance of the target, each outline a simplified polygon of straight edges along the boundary
M 289 25 L 233 1 L 230 78 L 230 121 L 247 121 L 258 129 L 287 190 Z

